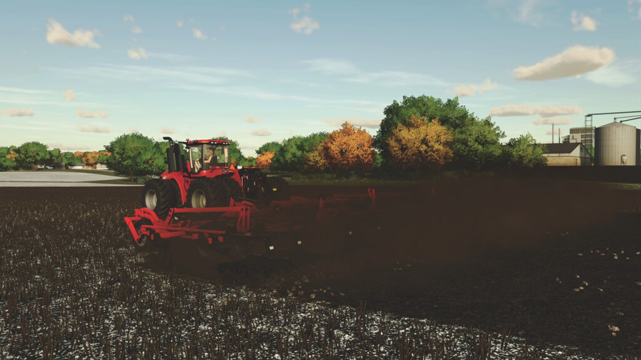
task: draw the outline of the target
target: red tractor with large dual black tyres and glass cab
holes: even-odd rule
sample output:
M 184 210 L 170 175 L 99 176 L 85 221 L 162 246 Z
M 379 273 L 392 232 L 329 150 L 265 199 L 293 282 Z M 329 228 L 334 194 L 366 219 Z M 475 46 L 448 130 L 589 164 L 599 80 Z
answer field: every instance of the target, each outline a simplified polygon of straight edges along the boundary
M 257 167 L 235 166 L 229 159 L 228 140 L 188 140 L 167 148 L 169 170 L 160 179 L 147 181 L 142 190 L 142 206 L 159 218 L 171 208 L 221 208 L 230 199 L 287 200 L 288 184 L 281 177 L 267 177 Z M 185 145 L 188 159 L 181 152 Z

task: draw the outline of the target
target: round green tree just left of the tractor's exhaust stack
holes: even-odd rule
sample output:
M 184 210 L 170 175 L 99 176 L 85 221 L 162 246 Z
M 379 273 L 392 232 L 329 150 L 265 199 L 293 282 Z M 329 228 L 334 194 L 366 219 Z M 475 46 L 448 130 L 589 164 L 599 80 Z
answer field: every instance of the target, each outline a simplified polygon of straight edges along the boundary
M 140 133 L 123 134 L 115 138 L 104 150 L 111 152 L 107 167 L 116 174 L 134 177 L 161 174 L 167 170 L 165 149 L 168 142 L 158 143 Z

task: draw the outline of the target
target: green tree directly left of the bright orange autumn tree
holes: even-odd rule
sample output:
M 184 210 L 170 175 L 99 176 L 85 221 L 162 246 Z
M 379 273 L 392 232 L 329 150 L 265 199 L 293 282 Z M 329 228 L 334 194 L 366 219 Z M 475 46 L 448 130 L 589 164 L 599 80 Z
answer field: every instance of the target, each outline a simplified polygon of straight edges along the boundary
M 278 171 L 303 171 L 305 156 L 317 149 L 327 136 L 327 133 L 313 133 L 284 140 L 272 158 L 271 168 Z

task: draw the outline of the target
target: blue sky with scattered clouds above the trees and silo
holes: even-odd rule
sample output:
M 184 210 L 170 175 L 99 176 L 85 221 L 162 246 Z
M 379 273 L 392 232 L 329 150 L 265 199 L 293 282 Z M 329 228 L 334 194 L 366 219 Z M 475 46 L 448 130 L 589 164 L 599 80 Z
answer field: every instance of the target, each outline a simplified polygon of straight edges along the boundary
M 0 2 L 0 146 L 138 131 L 249 156 L 345 121 L 374 135 L 404 95 L 458 96 L 504 141 L 641 110 L 641 0 L 184 3 Z

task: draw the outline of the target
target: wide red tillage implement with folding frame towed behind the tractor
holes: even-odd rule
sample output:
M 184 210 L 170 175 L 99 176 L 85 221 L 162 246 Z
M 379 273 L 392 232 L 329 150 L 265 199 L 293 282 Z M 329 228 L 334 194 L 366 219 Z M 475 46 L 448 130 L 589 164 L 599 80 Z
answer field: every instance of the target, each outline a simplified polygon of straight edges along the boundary
M 290 197 L 269 203 L 232 197 L 228 207 L 172 208 L 166 218 L 159 218 L 151 209 L 140 208 L 124 220 L 139 248 L 169 240 L 192 240 L 199 245 L 201 255 L 215 254 L 215 262 L 221 264 L 250 256 L 291 258 L 303 249 L 300 233 L 314 232 L 310 227 L 337 221 L 374 222 L 377 213 L 376 190 L 369 188 L 366 194 L 335 193 L 318 199 Z M 352 234 L 344 227 L 337 229 L 337 235 Z

